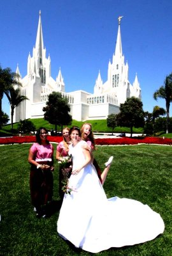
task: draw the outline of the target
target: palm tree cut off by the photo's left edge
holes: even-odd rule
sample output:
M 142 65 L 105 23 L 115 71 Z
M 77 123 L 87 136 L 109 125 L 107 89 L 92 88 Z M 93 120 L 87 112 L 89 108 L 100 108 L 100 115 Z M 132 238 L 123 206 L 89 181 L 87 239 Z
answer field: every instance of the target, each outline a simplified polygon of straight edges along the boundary
M 9 90 L 18 82 L 18 74 L 11 72 L 11 68 L 2 68 L 0 66 L 0 129 L 2 127 L 2 100 L 3 95 L 9 95 Z

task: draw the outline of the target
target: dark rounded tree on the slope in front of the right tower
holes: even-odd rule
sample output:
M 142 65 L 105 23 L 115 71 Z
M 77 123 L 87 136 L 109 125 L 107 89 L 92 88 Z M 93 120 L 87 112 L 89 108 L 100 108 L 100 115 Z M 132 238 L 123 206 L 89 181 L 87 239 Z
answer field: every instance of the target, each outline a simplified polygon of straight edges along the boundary
M 120 104 L 120 113 L 117 115 L 117 122 L 120 127 L 130 127 L 131 137 L 133 127 L 143 127 L 145 124 L 143 103 L 136 97 L 131 97 Z

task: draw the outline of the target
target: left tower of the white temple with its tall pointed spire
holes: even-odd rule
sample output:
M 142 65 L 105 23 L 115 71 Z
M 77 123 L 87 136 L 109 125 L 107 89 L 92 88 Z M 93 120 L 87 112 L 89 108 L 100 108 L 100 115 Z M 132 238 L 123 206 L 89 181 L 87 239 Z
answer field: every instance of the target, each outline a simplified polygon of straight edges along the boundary
M 19 69 L 18 69 L 19 70 Z M 55 90 L 55 81 L 51 77 L 50 56 L 46 58 L 46 49 L 43 44 L 43 29 L 41 24 L 41 11 L 39 11 L 38 29 L 36 33 L 36 44 L 32 49 L 32 56 L 29 52 L 27 58 L 27 75 L 21 79 L 21 94 L 27 96 L 29 100 L 24 100 L 19 108 L 16 109 L 16 120 L 24 120 L 32 116 L 42 115 L 43 93 Z M 34 104 L 37 104 L 34 106 Z M 38 113 L 36 113 L 38 112 Z M 19 118 L 20 116 L 20 118 Z

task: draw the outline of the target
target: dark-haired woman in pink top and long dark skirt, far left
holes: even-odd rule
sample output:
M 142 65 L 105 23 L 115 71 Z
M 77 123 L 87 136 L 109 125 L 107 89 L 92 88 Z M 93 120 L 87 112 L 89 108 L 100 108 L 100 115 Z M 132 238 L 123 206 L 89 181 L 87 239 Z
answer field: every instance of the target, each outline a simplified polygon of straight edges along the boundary
M 53 196 L 54 148 L 47 140 L 47 136 L 47 129 L 38 129 L 36 143 L 31 146 L 28 157 L 31 164 L 31 202 L 36 216 L 43 218 L 47 216 L 46 206 L 52 201 Z

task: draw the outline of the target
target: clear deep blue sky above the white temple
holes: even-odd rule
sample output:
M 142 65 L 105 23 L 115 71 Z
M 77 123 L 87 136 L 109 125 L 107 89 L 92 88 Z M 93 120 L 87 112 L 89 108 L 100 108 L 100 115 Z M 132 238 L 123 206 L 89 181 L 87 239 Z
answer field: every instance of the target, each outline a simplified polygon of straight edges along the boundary
M 129 64 L 129 81 L 133 84 L 138 74 L 144 111 L 152 112 L 156 105 L 165 108 L 165 101 L 155 101 L 153 93 L 172 72 L 171 0 L 1 0 L 1 67 L 15 71 L 18 63 L 22 77 L 36 43 L 39 10 L 52 77 L 61 67 L 66 92 L 93 93 L 99 70 L 103 82 L 107 80 L 118 16 L 124 16 L 122 51 Z M 3 111 L 10 113 L 5 97 Z

